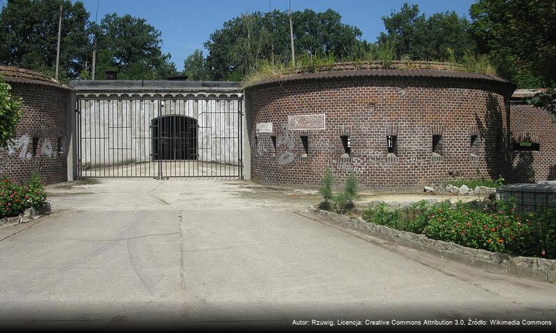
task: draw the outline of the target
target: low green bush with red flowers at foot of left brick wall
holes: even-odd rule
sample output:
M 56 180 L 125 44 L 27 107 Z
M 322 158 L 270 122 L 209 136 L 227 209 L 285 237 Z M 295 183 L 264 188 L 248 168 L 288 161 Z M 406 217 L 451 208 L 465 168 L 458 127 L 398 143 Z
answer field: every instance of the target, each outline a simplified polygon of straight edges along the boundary
M 40 208 L 47 202 L 44 182 L 33 175 L 25 185 L 2 178 L 0 182 L 0 219 L 17 216 L 27 208 Z

